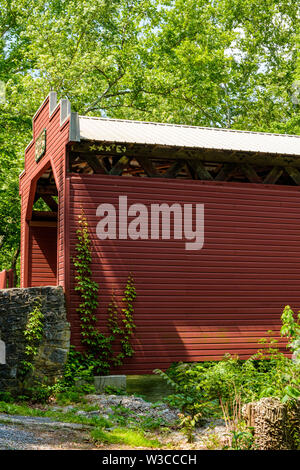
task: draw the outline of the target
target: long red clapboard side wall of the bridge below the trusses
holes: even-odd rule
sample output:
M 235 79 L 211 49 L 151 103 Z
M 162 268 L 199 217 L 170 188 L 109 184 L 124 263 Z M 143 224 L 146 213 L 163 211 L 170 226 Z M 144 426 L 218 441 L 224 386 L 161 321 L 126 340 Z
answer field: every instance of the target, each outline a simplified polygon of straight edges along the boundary
M 205 205 L 202 250 L 181 240 L 104 240 L 96 236 L 101 203 Z M 93 276 L 100 285 L 99 325 L 105 325 L 112 288 L 121 295 L 135 278 L 135 356 L 122 371 L 149 373 L 173 361 L 221 359 L 225 352 L 249 357 L 257 340 L 273 330 L 279 338 L 286 304 L 300 306 L 300 193 L 297 187 L 72 175 L 70 259 L 81 206 L 93 240 Z M 70 265 L 69 320 L 80 345 Z M 283 347 L 282 341 L 279 345 Z

